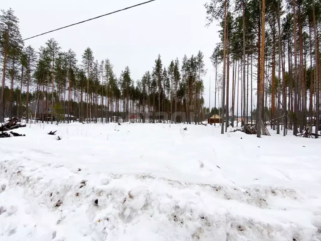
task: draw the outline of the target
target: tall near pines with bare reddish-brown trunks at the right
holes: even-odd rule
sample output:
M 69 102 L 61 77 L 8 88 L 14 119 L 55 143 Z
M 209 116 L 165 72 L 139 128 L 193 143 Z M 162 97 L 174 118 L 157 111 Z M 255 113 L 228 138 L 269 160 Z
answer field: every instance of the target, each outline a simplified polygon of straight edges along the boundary
M 240 101 L 243 122 L 255 119 L 258 137 L 261 120 L 278 134 L 313 124 L 318 133 L 320 1 L 211 0 L 205 8 L 207 24 L 221 26 L 212 61 L 222 72 L 222 118 L 233 119 Z

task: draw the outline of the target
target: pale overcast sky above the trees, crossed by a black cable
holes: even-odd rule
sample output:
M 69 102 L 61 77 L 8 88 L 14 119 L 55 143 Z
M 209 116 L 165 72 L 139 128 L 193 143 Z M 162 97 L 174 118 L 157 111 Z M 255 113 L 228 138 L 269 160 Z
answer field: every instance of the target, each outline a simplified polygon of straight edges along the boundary
M 190 57 L 198 50 L 204 53 L 208 69 L 204 76 L 205 105 L 209 105 L 214 90 L 215 73 L 210 61 L 215 44 L 219 41 L 217 23 L 206 27 L 204 3 L 209 0 L 157 0 L 120 13 L 85 22 L 63 30 L 26 40 L 36 50 L 50 38 L 55 38 L 61 50 L 73 49 L 78 60 L 87 47 L 101 61 L 109 58 L 117 76 L 128 65 L 136 81 L 147 70 L 152 70 L 154 60 L 161 55 L 163 65 L 184 54 Z M 11 7 L 20 20 L 22 38 L 80 22 L 113 12 L 144 0 L 13 0 L 2 1 L 1 9 Z M 214 95 L 211 95 L 211 107 Z M 218 104 L 217 104 L 218 105 Z

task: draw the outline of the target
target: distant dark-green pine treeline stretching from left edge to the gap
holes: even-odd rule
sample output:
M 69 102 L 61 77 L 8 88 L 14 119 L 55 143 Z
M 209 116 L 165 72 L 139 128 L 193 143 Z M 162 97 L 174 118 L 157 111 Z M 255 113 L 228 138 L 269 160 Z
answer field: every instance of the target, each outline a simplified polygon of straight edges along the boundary
M 168 65 L 159 55 L 153 69 L 134 81 L 128 66 L 117 76 L 112 62 L 98 61 L 90 48 L 77 61 L 72 49 L 62 51 L 53 38 L 38 50 L 25 47 L 12 9 L 2 10 L 0 33 L 0 122 L 16 115 L 34 117 L 36 113 L 27 108 L 31 102 L 52 103 L 54 110 L 67 115 L 67 121 L 72 115 L 79 121 L 128 121 L 135 116 L 136 121 L 155 122 L 164 119 L 161 113 L 173 122 L 204 121 L 206 69 L 201 51 Z

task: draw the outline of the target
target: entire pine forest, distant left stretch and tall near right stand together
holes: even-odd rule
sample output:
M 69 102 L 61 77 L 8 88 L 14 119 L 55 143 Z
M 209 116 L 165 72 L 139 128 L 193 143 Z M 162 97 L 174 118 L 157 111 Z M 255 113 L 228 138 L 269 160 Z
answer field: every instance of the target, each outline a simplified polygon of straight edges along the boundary
M 211 113 L 222 117 L 222 133 L 228 127 L 224 120 L 234 125 L 239 112 L 243 125 L 255 123 L 258 137 L 261 120 L 284 135 L 288 129 L 294 135 L 312 130 L 312 125 L 318 133 L 320 1 L 210 0 L 204 6 L 207 24 L 218 22 L 221 28 L 211 57 L 215 88 L 210 94 L 215 98 Z M 126 121 L 128 113 L 138 113 L 145 122 L 149 113 L 148 121 L 155 122 L 162 119 L 158 112 L 166 112 L 171 121 L 199 123 L 210 114 L 204 107 L 201 51 L 166 65 L 158 56 L 153 69 L 134 81 L 129 67 L 117 76 L 111 61 L 95 60 L 90 48 L 77 61 L 74 51 L 62 51 L 54 39 L 38 50 L 24 47 L 12 9 L 2 10 L 0 34 L 0 121 L 30 116 L 26 107 L 35 101 L 53 102 L 80 121 Z

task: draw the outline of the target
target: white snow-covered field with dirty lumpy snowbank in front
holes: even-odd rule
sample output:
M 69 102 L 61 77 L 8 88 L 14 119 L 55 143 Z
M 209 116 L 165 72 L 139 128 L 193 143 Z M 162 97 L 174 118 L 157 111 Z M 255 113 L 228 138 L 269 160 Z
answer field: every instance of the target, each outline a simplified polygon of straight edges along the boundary
M 183 124 L 15 131 L 26 136 L 0 139 L 1 241 L 321 240 L 321 139 Z

